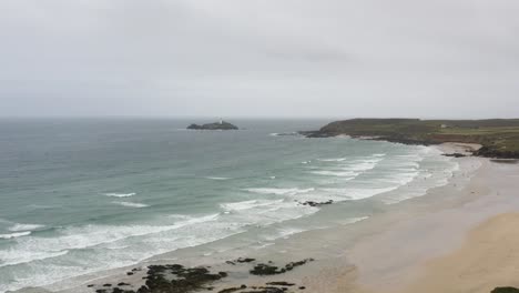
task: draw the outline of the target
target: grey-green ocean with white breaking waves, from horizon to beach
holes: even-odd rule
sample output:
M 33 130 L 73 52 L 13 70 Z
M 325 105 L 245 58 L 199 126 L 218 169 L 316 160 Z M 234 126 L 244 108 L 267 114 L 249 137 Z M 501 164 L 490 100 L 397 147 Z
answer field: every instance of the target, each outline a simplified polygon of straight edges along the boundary
M 212 121 L 2 119 L 0 292 L 231 236 L 261 249 L 354 225 L 459 168 L 434 148 L 293 133 L 329 121 L 185 130 L 193 122 Z

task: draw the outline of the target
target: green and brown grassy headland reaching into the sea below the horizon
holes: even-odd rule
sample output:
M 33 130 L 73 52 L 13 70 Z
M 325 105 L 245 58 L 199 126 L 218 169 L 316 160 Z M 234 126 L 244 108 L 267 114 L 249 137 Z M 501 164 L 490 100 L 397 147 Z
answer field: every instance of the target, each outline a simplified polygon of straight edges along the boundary
M 338 134 L 373 137 L 409 144 L 479 143 L 484 148 L 477 155 L 519 158 L 519 119 L 352 119 L 332 122 L 309 137 Z

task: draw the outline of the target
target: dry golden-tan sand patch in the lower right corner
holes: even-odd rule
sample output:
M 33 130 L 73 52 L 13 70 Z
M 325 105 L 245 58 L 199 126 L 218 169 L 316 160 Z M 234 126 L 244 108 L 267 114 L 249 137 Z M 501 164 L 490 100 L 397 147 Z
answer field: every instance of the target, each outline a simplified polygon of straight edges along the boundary
M 519 286 L 519 213 L 480 224 L 455 252 L 431 260 L 426 272 L 404 293 L 488 293 L 496 286 Z

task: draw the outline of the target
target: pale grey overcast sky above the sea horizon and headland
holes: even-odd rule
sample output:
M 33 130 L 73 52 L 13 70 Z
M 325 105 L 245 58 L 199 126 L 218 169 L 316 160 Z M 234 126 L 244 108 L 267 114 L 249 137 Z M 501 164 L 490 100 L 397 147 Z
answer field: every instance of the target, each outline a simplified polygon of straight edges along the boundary
M 519 117 L 517 0 L 1 0 L 0 115 Z

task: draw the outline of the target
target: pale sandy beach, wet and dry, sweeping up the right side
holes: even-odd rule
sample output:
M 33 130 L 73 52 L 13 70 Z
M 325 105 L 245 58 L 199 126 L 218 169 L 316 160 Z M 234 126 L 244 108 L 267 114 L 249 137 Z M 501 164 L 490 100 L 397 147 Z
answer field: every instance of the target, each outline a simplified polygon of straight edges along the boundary
M 454 180 L 450 189 L 432 191 L 448 195 L 447 205 L 431 204 L 364 238 L 348 252 L 352 270 L 329 287 L 319 282 L 315 292 L 484 293 L 518 286 L 519 165 L 461 160 L 482 165 L 462 188 Z

